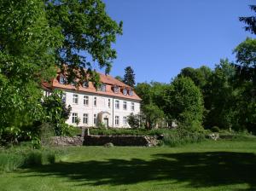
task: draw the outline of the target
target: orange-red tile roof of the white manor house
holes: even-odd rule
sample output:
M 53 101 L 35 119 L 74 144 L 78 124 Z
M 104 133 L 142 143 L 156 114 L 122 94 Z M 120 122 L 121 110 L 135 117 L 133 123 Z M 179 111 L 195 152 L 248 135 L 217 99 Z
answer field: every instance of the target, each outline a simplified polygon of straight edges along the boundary
M 120 82 L 118 79 L 113 78 L 109 75 L 105 75 L 100 73 L 100 81 L 103 84 L 106 85 L 106 91 L 102 90 L 96 90 L 96 88 L 93 86 L 93 84 L 90 82 L 88 88 L 84 88 L 82 86 L 79 86 L 76 88 L 75 86 L 71 84 L 61 84 L 57 80 L 57 78 L 54 78 L 51 83 L 51 89 L 62 89 L 62 90 L 76 90 L 76 91 L 81 91 L 81 92 L 88 92 L 88 93 L 93 93 L 93 94 L 98 94 L 102 96 L 114 96 L 114 97 L 119 97 L 119 98 L 125 98 L 125 99 L 130 99 L 130 100 L 135 100 L 135 101 L 141 101 L 142 99 L 137 96 L 137 94 L 133 91 L 133 95 L 130 96 L 129 92 L 127 92 L 127 95 L 124 95 L 123 92 L 121 91 L 122 89 L 127 89 L 127 90 L 132 90 L 131 87 L 127 84 L 124 84 L 123 82 Z M 49 85 L 46 85 L 43 83 L 44 86 L 49 88 Z M 43 85 L 42 84 L 42 85 Z M 117 85 L 119 86 L 119 93 L 114 93 L 113 92 L 113 86 Z

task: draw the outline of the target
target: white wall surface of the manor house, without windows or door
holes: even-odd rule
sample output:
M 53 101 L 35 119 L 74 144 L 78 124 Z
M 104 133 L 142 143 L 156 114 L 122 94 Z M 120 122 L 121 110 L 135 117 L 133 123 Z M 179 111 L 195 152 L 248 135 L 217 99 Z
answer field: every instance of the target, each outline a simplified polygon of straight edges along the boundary
M 72 107 L 72 111 L 69 119 L 67 119 L 67 124 L 77 125 L 73 123 L 73 113 L 78 113 L 80 120 L 79 126 L 96 126 L 94 124 L 94 114 L 96 114 L 96 123 L 101 121 L 101 119 L 108 118 L 108 126 L 122 128 L 129 127 L 123 123 L 123 118 L 129 116 L 131 113 L 140 113 L 140 103 L 139 101 L 131 99 L 123 99 L 113 96 L 102 96 L 88 92 L 81 92 L 75 90 L 63 90 L 66 94 L 66 104 Z M 73 103 L 73 95 L 78 95 L 78 103 Z M 89 97 L 88 106 L 84 105 L 84 96 Z M 96 97 L 96 106 L 94 106 L 94 99 Z M 108 99 L 110 100 L 110 107 L 108 107 Z M 115 101 L 119 101 L 119 108 L 115 107 Z M 126 101 L 126 110 L 123 107 L 124 101 Z M 131 103 L 134 103 L 134 110 L 131 109 Z M 84 113 L 88 114 L 88 124 L 84 124 Z M 119 124 L 115 124 L 115 116 L 119 116 Z M 102 120 L 104 122 L 104 120 Z

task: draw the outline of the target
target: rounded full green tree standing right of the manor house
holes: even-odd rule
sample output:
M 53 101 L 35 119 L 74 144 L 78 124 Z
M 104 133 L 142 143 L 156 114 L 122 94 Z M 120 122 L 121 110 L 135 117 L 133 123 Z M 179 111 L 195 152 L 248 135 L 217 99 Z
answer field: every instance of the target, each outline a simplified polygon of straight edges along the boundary
M 180 127 L 201 130 L 203 98 L 190 78 L 178 77 L 166 88 L 164 112 Z

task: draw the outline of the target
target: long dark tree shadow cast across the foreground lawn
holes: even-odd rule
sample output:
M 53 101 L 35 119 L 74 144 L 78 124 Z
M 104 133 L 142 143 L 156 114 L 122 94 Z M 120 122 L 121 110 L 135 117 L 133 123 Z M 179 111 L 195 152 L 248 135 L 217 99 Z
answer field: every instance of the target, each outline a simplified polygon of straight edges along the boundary
M 106 161 L 61 162 L 29 171 L 37 176 L 68 177 L 79 185 L 121 185 L 170 180 L 206 188 L 247 183 L 256 190 L 256 155 L 253 153 L 162 153 L 152 160 L 108 159 Z M 34 176 L 34 175 L 32 175 Z

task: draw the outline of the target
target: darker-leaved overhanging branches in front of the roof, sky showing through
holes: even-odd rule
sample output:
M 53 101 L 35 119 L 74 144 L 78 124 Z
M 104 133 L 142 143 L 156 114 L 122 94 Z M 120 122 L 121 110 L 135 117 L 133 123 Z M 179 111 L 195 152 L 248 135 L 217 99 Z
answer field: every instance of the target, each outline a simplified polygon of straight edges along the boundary
M 65 70 L 63 64 L 68 65 L 68 82 L 79 78 L 80 84 L 90 80 L 98 85 L 98 74 L 91 70 L 91 61 L 110 72 L 116 58 L 112 43 L 116 35 L 122 34 L 122 22 L 117 24 L 108 16 L 101 0 L 45 0 L 45 8 L 49 26 L 57 26 L 63 36 L 55 54 L 58 67 Z

